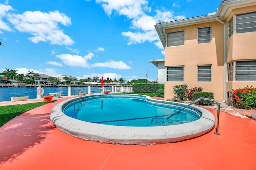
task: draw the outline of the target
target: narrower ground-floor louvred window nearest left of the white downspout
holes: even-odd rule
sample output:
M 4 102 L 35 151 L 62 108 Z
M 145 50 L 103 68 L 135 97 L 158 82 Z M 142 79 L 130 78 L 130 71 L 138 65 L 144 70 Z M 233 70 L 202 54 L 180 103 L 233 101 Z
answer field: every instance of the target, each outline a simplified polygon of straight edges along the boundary
M 197 66 L 197 81 L 212 81 L 212 65 Z

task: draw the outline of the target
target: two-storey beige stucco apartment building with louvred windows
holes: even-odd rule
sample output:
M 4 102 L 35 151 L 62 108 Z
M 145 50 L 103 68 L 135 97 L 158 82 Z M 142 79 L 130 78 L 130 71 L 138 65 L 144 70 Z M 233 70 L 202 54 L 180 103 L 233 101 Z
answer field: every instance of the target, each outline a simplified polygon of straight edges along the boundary
M 165 99 L 180 84 L 213 92 L 217 101 L 227 101 L 232 89 L 256 86 L 255 0 L 224 0 L 214 13 L 155 28 L 165 49 Z

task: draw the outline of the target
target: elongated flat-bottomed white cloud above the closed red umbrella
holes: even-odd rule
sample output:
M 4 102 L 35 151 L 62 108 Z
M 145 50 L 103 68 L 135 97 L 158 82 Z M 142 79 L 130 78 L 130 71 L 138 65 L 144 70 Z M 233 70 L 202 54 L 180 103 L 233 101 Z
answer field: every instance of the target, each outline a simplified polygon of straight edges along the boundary
M 94 63 L 90 65 L 91 67 L 109 67 L 113 69 L 131 69 L 130 66 L 128 66 L 123 61 L 113 61 L 109 60 L 104 63 Z

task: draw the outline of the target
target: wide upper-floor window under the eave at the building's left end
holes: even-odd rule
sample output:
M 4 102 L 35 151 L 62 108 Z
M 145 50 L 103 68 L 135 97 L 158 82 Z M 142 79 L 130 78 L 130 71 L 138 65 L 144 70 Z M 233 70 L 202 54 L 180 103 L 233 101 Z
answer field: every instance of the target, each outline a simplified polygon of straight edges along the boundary
M 184 30 L 167 33 L 167 47 L 184 45 Z

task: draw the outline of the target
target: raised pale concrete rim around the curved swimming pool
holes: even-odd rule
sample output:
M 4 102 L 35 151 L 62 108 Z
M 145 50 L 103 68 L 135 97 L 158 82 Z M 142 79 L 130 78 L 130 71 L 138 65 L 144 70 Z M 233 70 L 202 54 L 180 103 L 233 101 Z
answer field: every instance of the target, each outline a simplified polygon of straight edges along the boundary
M 120 94 L 110 95 L 116 96 Z M 57 104 L 50 113 L 50 119 L 61 131 L 85 140 L 112 144 L 139 145 L 179 142 L 206 134 L 210 132 L 215 125 L 214 115 L 210 111 L 194 105 L 194 108 L 202 112 L 202 117 L 196 121 L 180 125 L 122 127 L 89 123 L 68 117 L 62 112 L 62 107 L 66 105 L 66 103 L 76 100 L 78 100 L 78 98 L 68 99 L 67 101 Z M 146 97 L 146 101 L 160 102 L 150 97 Z M 172 102 L 164 101 L 164 103 Z

